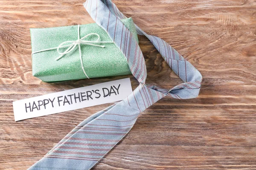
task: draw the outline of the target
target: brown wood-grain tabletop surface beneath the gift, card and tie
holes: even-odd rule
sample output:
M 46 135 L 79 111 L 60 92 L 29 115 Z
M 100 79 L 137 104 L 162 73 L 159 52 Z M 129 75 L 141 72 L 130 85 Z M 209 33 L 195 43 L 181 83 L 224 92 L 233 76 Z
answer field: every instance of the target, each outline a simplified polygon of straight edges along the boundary
M 25 170 L 70 130 L 112 103 L 14 121 L 12 102 L 130 76 L 58 84 L 32 76 L 29 28 L 93 23 L 83 0 L 0 0 L 0 169 Z M 203 75 L 196 99 L 165 97 L 95 170 L 256 170 L 256 1 L 114 0 L 143 30 L 169 42 Z M 180 79 L 140 38 L 148 83 Z

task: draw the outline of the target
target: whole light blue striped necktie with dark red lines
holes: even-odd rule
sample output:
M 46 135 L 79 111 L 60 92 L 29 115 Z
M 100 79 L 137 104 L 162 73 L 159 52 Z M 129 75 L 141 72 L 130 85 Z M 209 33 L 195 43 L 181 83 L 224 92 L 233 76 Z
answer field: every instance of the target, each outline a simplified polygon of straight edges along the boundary
M 191 99 L 198 96 L 200 72 L 162 39 L 145 35 L 184 83 L 172 89 L 145 84 L 147 75 L 143 54 L 131 32 L 120 21 L 126 18 L 111 0 L 87 0 L 84 7 L 125 55 L 133 76 L 140 85 L 127 98 L 81 122 L 29 170 L 89 170 L 133 127 L 140 112 L 164 96 Z

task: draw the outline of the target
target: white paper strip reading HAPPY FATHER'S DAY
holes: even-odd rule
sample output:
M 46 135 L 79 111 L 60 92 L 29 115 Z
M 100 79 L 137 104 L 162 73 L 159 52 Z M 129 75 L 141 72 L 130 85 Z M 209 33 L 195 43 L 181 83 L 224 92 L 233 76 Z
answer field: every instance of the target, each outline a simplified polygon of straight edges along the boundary
M 125 99 L 132 93 L 130 78 L 12 102 L 15 121 L 71 111 Z

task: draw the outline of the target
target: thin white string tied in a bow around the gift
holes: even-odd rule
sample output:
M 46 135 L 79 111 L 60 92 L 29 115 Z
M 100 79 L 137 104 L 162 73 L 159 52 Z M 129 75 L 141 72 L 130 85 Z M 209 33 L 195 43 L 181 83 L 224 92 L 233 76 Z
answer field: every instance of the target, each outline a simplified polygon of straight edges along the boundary
M 90 35 L 96 35 L 98 37 L 98 39 L 95 41 L 84 40 L 85 38 L 89 37 Z M 99 34 L 96 34 L 96 33 L 90 33 L 90 34 L 87 34 L 86 36 L 82 37 L 81 39 L 79 39 L 79 38 L 80 38 L 80 25 L 78 25 L 78 39 L 77 40 L 62 42 L 58 47 L 55 47 L 55 48 L 48 48 L 48 49 L 44 49 L 44 50 L 40 50 L 40 51 L 34 51 L 34 52 L 32 52 L 31 56 L 35 53 L 39 53 L 42 51 L 49 51 L 49 50 L 57 49 L 57 52 L 58 52 L 58 54 L 60 54 L 60 56 L 55 58 L 55 60 L 58 60 L 58 59 L 61 59 L 65 54 L 68 54 L 71 51 L 73 51 L 76 48 L 76 45 L 78 45 L 81 68 L 82 68 L 85 76 L 89 79 L 86 72 L 84 71 L 84 65 L 83 65 L 83 59 L 82 59 L 82 55 L 81 55 L 80 44 L 86 44 L 86 45 L 92 45 L 92 46 L 104 48 L 105 45 L 96 45 L 93 43 L 113 43 L 113 42 L 112 41 L 99 41 L 99 39 L 100 39 Z M 65 47 L 68 47 L 67 50 L 65 50 L 64 52 L 60 52 L 60 48 L 65 48 Z

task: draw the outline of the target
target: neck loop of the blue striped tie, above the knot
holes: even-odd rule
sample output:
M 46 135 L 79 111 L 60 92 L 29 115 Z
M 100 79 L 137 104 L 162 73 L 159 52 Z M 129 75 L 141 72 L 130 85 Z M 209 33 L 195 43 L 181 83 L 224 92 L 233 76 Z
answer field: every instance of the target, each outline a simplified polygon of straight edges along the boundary
M 140 84 L 145 85 L 147 71 L 142 51 L 131 31 L 127 30 L 121 22 L 127 17 L 119 11 L 111 0 L 87 0 L 84 7 L 93 20 L 108 33 L 116 46 L 123 52 L 133 76 Z M 97 15 L 99 11 L 101 15 Z M 197 97 L 201 88 L 201 73 L 167 42 L 159 37 L 146 34 L 136 24 L 135 28 L 137 34 L 145 35 L 152 42 L 172 71 L 183 80 L 183 83 L 171 89 L 160 88 L 157 85 L 146 86 L 175 99 Z

